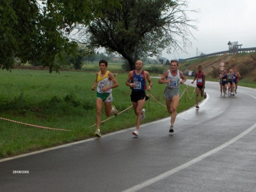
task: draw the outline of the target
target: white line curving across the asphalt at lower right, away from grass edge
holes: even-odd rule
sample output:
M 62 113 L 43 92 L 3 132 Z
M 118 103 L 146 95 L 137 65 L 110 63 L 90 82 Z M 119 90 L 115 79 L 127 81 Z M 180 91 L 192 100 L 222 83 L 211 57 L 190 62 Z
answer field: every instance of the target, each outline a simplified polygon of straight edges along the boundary
M 242 132 L 241 134 L 239 134 L 238 136 L 236 136 L 232 140 L 227 141 L 227 143 L 224 143 L 223 145 L 220 145 L 219 147 L 216 147 L 216 148 L 210 150 L 209 152 L 203 154 L 202 156 L 196 157 L 195 159 L 193 159 L 191 161 L 188 161 L 187 163 L 184 163 L 180 166 L 177 166 L 176 168 L 173 168 L 172 170 L 169 170 L 168 172 L 162 173 L 161 175 L 153 177 L 152 179 L 148 179 L 145 182 L 142 182 L 141 184 L 133 186 L 132 188 L 126 189 L 125 191 L 122 191 L 122 192 L 138 191 L 138 190 L 140 190 L 142 188 L 145 188 L 145 187 L 149 186 L 150 184 L 153 184 L 153 183 L 155 183 L 155 182 L 157 182 L 161 179 L 169 177 L 170 175 L 173 175 L 174 173 L 179 172 L 180 170 L 183 170 L 184 168 L 187 168 L 188 166 L 191 166 L 192 164 L 195 164 L 195 163 L 205 159 L 206 157 L 211 156 L 212 154 L 220 151 L 221 149 L 223 149 L 225 147 L 228 147 L 229 145 L 236 142 L 240 138 L 243 138 L 243 136 L 245 136 L 249 132 L 253 131 L 253 129 L 255 129 L 255 128 L 256 128 L 256 124 L 252 125 L 252 127 L 248 128 L 246 131 Z

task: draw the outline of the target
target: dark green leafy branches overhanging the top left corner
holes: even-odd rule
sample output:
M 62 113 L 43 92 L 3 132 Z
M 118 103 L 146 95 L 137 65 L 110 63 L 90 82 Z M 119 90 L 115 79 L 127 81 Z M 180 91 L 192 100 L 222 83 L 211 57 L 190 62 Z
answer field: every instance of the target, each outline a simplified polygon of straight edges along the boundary
M 120 0 L 1 0 L 0 67 L 11 70 L 16 58 L 21 63 L 41 61 L 50 72 L 58 70 L 55 56 L 76 49 L 68 35 L 76 24 L 85 26 L 120 6 Z

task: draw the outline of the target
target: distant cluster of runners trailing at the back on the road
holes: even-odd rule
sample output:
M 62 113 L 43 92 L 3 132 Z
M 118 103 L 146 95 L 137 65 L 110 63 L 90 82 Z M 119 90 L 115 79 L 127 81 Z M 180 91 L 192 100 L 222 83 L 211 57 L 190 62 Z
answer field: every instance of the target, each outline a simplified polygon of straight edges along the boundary
M 237 93 L 237 84 L 241 75 L 237 72 L 237 68 L 230 68 L 228 74 L 227 69 L 221 70 L 218 76 L 220 83 L 220 96 L 235 96 Z M 227 93 L 228 90 L 228 93 Z M 223 93 L 223 94 L 222 94 Z

